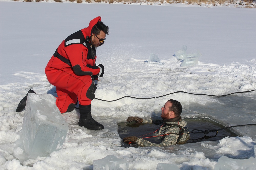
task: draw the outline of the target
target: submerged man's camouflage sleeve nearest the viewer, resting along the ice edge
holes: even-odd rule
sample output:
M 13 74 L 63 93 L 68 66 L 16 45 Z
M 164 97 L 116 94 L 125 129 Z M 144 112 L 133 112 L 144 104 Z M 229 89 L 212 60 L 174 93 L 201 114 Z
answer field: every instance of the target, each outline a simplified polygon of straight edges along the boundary
M 175 145 L 176 144 L 177 138 L 178 138 L 178 135 L 169 134 L 169 135 L 166 135 L 164 140 L 161 143 L 159 143 L 159 144 L 151 143 L 151 142 L 149 142 L 149 141 L 147 141 L 145 139 L 138 138 L 136 140 L 136 144 L 139 145 L 139 146 L 158 146 L 158 147 L 170 146 L 170 145 Z

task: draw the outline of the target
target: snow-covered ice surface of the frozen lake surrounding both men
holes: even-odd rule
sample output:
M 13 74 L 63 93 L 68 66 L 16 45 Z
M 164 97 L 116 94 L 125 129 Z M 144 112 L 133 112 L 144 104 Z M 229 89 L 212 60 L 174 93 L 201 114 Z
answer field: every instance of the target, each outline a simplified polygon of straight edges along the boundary
M 159 115 L 168 99 L 183 105 L 183 117 L 208 117 L 224 126 L 253 124 L 256 95 L 255 9 L 184 4 L 124 5 L 0 2 L 0 169 L 93 169 L 94 160 L 113 155 L 129 169 L 214 169 L 219 158 L 255 158 L 255 126 L 231 128 L 239 137 L 168 147 L 121 147 L 117 123 L 129 116 Z M 44 68 L 58 45 L 97 16 L 109 26 L 97 64 L 105 73 L 95 93 L 92 116 L 104 125 L 94 132 L 78 126 L 79 112 L 62 114 L 69 129 L 63 147 L 49 156 L 14 157 L 24 112 L 15 112 L 29 89 L 56 96 Z M 202 54 L 181 67 L 173 56 L 182 44 Z M 150 53 L 162 64 L 148 64 Z M 54 98 L 52 100 L 54 101 Z M 190 129 L 191 130 L 191 129 Z M 204 130 L 204 129 L 202 129 Z M 193 134 L 191 134 L 193 135 Z M 252 158 L 251 158 L 252 157 Z M 239 162 L 236 161 L 236 162 Z M 254 165 L 252 165 L 253 167 Z M 253 167 L 254 168 L 254 167 Z

